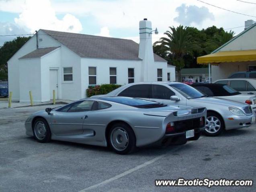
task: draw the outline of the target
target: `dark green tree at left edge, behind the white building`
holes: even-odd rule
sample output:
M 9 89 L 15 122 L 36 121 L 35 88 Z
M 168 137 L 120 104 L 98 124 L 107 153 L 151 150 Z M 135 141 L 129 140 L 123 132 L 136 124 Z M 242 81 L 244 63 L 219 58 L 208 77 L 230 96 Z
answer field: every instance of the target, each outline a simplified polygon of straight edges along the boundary
M 0 47 L 0 80 L 8 80 L 7 61 L 30 39 L 31 37 L 17 37 L 5 42 Z

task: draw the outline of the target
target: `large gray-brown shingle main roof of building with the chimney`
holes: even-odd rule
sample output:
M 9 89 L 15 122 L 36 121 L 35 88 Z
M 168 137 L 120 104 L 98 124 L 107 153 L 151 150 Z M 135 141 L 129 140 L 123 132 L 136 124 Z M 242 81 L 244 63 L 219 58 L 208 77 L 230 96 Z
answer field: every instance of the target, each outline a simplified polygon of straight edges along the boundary
M 133 40 L 42 30 L 81 57 L 141 60 L 139 44 Z M 166 62 L 154 54 L 155 61 Z

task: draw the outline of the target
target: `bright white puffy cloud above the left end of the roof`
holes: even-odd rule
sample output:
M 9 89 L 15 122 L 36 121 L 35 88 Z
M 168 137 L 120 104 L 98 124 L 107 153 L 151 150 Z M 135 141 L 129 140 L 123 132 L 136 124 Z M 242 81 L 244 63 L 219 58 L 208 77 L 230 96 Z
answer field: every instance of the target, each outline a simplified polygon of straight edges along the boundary
M 74 15 L 65 14 L 62 19 L 58 19 L 50 0 L 1 0 L 0 7 L 0 10 L 19 12 L 15 23 L 29 28 L 31 33 L 40 28 L 75 33 L 82 31 L 82 24 Z

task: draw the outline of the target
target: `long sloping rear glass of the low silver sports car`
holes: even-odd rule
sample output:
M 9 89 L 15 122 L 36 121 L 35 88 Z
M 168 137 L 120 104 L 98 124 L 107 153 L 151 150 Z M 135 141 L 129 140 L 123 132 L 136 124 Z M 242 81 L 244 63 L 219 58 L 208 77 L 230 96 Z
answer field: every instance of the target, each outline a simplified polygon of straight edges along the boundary
M 125 104 L 129 106 L 135 106 L 135 107 L 160 105 L 160 103 L 158 102 L 153 102 L 153 101 L 139 99 L 139 98 L 131 98 L 131 97 L 104 97 L 100 99 L 115 102 L 115 103 Z

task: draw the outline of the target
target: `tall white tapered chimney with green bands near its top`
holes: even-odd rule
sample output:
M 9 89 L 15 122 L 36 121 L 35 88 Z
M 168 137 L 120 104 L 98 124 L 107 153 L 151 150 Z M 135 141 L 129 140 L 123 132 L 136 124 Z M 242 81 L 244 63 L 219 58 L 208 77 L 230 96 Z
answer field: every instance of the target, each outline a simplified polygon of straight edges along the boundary
M 152 79 L 157 80 L 157 70 L 152 47 L 152 25 L 147 19 L 139 22 L 139 58 L 142 59 L 141 81 L 149 82 L 150 79 L 151 81 Z

